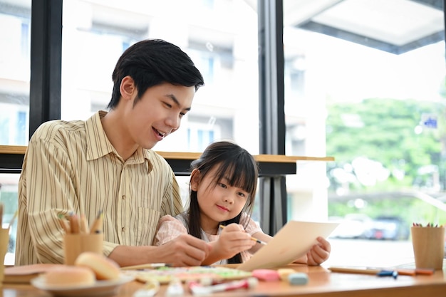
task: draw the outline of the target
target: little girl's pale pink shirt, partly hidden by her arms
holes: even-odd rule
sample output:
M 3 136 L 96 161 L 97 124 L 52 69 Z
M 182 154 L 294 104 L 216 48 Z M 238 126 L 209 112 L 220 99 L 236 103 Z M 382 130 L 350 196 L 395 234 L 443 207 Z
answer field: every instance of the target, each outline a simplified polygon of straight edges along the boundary
M 240 222 L 242 226 L 244 226 L 244 231 L 247 231 L 247 234 L 253 235 L 257 232 L 262 232 L 259 225 L 249 217 L 246 212 L 242 212 L 242 217 L 240 217 Z M 172 217 L 170 215 L 166 215 L 160 219 L 158 224 L 158 231 L 155 236 L 155 245 L 160 246 L 165 244 L 172 239 L 177 238 L 181 234 L 187 234 L 187 212 L 183 212 L 182 214 L 178 214 L 176 217 Z M 202 239 L 206 242 L 216 241 L 222 230 L 218 229 L 217 235 L 207 234 L 202 229 Z M 242 251 L 240 253 L 242 255 L 242 263 L 246 262 L 251 258 L 252 254 L 249 251 Z M 226 259 L 222 259 L 214 263 L 217 264 L 227 264 Z

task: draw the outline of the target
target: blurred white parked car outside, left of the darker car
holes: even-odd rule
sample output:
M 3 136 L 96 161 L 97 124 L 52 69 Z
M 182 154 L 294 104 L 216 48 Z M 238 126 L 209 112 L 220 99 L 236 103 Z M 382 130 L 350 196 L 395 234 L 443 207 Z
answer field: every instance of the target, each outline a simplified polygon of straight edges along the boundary
M 331 234 L 331 237 L 341 239 L 366 239 L 370 236 L 372 219 L 366 214 L 346 214 L 342 219 L 333 219 L 339 222 L 339 226 Z

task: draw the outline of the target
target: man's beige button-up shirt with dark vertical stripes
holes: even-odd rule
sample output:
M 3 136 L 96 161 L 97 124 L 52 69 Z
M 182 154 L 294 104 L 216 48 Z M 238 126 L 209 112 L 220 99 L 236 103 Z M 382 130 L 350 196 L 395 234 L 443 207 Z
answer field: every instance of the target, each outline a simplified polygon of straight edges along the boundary
M 103 211 L 106 256 L 118 245 L 152 244 L 160 217 L 182 212 L 172 168 L 153 150 L 139 148 L 125 162 L 100 118 L 43 123 L 29 141 L 19 179 L 16 265 L 63 263 L 58 214 Z

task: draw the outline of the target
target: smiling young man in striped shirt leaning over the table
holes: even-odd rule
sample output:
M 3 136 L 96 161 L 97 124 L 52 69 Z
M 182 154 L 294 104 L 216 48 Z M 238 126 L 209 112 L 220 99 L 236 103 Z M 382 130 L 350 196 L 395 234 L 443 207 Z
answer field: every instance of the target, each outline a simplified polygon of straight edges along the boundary
M 209 246 L 193 236 L 152 246 L 157 222 L 182 212 L 180 189 L 152 147 L 180 127 L 201 73 L 162 40 L 130 46 L 113 71 L 109 112 L 53 120 L 31 137 L 19 179 L 16 265 L 63 263 L 60 216 L 103 214 L 103 252 L 120 266 L 201 264 Z

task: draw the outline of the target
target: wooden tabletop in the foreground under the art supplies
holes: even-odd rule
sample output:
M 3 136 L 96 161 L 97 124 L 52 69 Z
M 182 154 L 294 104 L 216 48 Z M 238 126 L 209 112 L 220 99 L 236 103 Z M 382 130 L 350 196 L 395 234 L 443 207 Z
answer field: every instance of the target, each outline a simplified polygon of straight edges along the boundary
M 436 297 L 446 296 L 446 280 L 444 271 L 435 271 L 432 276 L 398 276 L 378 277 L 364 274 L 334 273 L 322 266 L 290 265 L 296 271 L 308 273 L 308 284 L 290 286 L 284 281 L 264 282 L 250 290 L 240 289 L 214 293 L 212 296 L 284 296 L 284 297 Z M 141 288 L 142 283 L 133 281 L 121 286 L 115 296 L 132 297 Z M 156 296 L 165 296 L 167 286 L 161 286 Z M 186 287 L 185 287 L 186 288 Z M 31 285 L 3 285 L 4 297 L 50 297 L 51 294 L 39 291 Z M 156 297 L 155 296 L 155 297 Z M 192 296 L 185 289 L 184 296 Z

